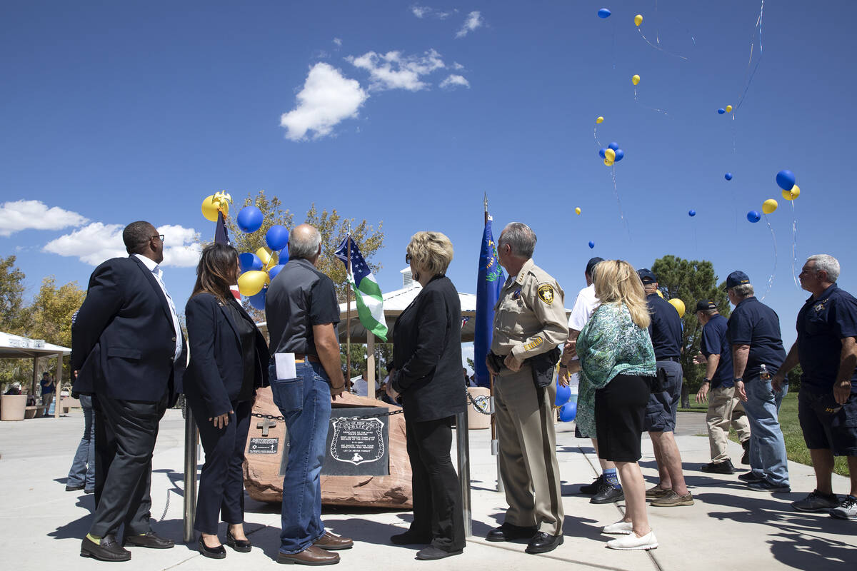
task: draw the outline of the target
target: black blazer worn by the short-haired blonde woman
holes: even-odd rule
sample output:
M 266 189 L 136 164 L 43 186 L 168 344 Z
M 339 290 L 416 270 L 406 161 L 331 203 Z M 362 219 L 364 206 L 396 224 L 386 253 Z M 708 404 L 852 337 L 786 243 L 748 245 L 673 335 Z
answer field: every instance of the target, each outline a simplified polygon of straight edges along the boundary
M 393 389 L 414 421 L 442 419 L 466 407 L 461 382 L 461 301 L 435 276 L 393 326 Z

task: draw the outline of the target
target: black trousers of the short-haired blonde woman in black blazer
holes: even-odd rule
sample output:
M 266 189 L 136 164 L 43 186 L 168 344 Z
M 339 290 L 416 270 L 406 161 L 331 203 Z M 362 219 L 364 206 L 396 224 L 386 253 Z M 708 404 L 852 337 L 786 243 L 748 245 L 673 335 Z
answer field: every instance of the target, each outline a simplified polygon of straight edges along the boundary
M 414 497 L 411 532 L 431 536 L 431 544 L 445 551 L 464 549 L 461 491 L 449 455 L 452 418 L 412 422 L 405 413 Z

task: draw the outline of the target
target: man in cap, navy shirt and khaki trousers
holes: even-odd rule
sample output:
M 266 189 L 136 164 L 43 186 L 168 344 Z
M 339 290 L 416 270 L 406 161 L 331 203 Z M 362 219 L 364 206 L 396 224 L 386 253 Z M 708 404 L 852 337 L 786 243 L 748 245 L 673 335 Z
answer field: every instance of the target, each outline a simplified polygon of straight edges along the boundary
M 727 321 L 717 311 L 717 304 L 710 300 L 697 303 L 697 319 L 702 325 L 702 351 L 693 360 L 697 365 L 705 364 L 705 378 L 697 393 L 697 402 L 709 401 L 705 423 L 708 425 L 708 440 L 711 447 L 711 462 L 702 467 L 703 472 L 730 474 L 735 467 L 729 458 L 727 446 L 729 425 L 732 425 L 744 447 L 741 462 L 750 463 L 750 424 L 744 407 L 735 396 L 732 382 L 732 348 L 726 340 Z

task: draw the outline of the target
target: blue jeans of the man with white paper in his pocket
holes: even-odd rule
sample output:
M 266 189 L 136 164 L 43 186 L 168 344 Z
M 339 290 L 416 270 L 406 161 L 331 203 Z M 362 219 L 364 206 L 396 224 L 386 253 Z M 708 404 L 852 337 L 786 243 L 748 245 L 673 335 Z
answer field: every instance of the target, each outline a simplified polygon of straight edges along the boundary
M 303 551 L 324 535 L 321 522 L 321 464 L 330 424 L 330 381 L 321 363 L 296 363 L 297 378 L 276 378 L 271 366 L 274 404 L 285 418 L 289 462 L 283 477 L 280 553 Z

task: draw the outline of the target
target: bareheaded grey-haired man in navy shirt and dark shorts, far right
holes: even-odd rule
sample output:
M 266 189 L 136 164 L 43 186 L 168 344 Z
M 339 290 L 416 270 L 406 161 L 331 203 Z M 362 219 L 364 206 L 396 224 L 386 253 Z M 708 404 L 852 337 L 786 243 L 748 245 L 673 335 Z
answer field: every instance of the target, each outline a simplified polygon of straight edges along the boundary
M 798 339 L 772 383 L 782 384 L 800 361 L 798 419 L 816 489 L 792 507 L 857 520 L 857 300 L 836 286 L 837 279 L 839 262 L 833 256 L 806 259 L 800 285 L 812 295 L 798 313 Z M 831 485 L 834 455 L 848 456 L 851 490 L 842 503 Z

